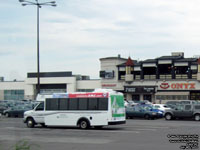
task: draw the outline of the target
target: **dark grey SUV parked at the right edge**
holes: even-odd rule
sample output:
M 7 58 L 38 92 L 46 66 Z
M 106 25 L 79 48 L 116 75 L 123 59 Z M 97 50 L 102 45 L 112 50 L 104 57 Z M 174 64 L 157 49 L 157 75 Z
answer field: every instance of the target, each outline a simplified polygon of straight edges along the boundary
M 177 105 L 174 109 L 167 110 L 164 116 L 166 120 L 194 118 L 194 120 L 200 121 L 200 105 Z

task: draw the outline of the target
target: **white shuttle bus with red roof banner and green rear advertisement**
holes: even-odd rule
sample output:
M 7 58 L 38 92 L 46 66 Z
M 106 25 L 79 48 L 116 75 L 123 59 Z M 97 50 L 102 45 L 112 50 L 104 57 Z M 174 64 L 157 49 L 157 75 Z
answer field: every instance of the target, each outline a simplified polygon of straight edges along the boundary
M 48 95 L 33 110 L 24 113 L 24 123 L 29 128 L 41 124 L 82 129 L 125 124 L 124 97 L 122 93 L 103 89 Z

